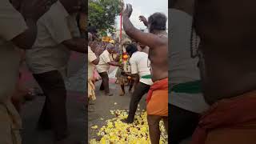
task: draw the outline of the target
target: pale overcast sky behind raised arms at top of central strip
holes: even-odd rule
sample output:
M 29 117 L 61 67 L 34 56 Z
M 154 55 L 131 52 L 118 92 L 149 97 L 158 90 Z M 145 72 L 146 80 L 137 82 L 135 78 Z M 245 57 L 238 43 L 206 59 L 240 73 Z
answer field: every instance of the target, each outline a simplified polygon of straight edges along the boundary
M 124 0 L 125 4 L 130 3 L 133 6 L 133 13 L 130 16 L 130 21 L 138 29 L 146 29 L 143 22 L 140 22 L 138 17 L 144 15 L 148 18 L 155 12 L 162 12 L 168 18 L 168 0 Z M 118 29 L 120 29 L 120 17 L 116 18 Z M 166 23 L 168 26 L 168 23 Z

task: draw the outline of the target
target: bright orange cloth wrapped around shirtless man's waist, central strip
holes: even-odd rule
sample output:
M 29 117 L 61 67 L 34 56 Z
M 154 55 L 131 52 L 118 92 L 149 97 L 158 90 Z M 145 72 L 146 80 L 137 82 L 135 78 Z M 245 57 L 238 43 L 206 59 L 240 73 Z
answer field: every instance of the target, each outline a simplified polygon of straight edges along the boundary
M 147 114 L 168 116 L 168 78 L 154 82 L 150 87 L 146 102 Z

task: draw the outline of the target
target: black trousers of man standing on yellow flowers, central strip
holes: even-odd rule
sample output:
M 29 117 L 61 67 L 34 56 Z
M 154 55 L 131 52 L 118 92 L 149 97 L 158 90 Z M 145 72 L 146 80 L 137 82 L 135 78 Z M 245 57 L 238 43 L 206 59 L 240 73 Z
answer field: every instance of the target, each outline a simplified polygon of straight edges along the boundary
M 146 85 L 142 82 L 138 82 L 135 86 L 134 93 L 130 99 L 129 115 L 127 118 L 128 122 L 134 122 L 134 116 L 138 107 L 138 102 L 142 99 L 143 95 L 150 90 L 150 85 Z

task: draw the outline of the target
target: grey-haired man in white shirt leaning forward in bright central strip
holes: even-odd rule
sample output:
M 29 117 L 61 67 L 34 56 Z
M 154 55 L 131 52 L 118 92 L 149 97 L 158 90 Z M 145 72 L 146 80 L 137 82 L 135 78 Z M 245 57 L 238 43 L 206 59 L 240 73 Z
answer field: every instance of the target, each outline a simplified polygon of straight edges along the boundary
M 120 66 L 122 67 L 122 64 L 119 64 L 118 62 L 111 61 L 110 54 L 116 53 L 114 50 L 113 44 L 108 44 L 106 46 L 106 50 L 103 51 L 103 53 L 99 56 L 99 62 L 96 66 L 96 69 L 98 70 L 98 74 L 102 77 L 102 85 L 100 87 L 100 90 L 105 90 L 105 94 L 107 96 L 112 96 L 113 94 L 110 94 L 110 86 L 109 86 L 109 75 L 108 71 L 110 70 L 110 66 Z

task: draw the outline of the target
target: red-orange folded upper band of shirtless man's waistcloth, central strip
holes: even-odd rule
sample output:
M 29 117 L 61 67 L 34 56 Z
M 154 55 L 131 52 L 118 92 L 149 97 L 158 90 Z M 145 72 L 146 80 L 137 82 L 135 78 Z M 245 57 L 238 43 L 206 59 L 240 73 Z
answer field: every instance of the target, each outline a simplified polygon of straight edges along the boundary
M 154 90 L 166 90 L 168 89 L 168 78 L 154 82 L 147 93 L 146 103 L 150 102 Z

